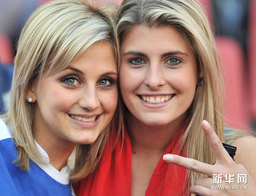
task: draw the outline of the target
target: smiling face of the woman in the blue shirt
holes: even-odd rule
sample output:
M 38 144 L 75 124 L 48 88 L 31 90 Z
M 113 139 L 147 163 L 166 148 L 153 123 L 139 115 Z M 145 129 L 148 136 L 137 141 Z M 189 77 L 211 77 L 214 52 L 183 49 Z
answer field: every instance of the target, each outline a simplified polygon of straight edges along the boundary
M 107 43 L 94 43 L 65 70 L 43 78 L 30 95 L 36 101 L 36 140 L 93 143 L 117 106 L 113 50 Z

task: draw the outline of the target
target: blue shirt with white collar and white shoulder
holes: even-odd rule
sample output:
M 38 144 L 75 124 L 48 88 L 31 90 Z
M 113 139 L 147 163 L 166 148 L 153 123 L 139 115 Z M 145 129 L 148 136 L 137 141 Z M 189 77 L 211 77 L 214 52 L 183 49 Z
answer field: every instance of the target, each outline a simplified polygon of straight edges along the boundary
M 9 129 L 0 119 L 0 195 L 72 195 L 69 175 L 64 175 L 68 177 L 68 179 L 64 179 L 68 184 L 57 182 L 56 179 L 53 179 L 55 178 L 54 172 L 57 174 L 59 171 L 53 166 L 40 167 L 32 160 L 30 160 L 29 172 L 27 170 L 22 171 L 16 163 L 12 163 L 16 157 L 17 150 L 9 134 Z M 51 174 L 53 178 L 47 173 L 48 171 L 53 171 Z M 58 175 L 61 176 L 62 174 Z

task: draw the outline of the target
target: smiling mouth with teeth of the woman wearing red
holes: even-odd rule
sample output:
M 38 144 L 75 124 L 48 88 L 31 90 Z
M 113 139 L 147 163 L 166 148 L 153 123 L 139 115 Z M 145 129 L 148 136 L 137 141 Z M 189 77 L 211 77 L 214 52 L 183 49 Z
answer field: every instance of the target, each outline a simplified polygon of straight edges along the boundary
M 140 101 L 144 106 L 150 108 L 160 108 L 164 107 L 169 103 L 175 94 L 161 94 L 161 95 L 138 95 Z

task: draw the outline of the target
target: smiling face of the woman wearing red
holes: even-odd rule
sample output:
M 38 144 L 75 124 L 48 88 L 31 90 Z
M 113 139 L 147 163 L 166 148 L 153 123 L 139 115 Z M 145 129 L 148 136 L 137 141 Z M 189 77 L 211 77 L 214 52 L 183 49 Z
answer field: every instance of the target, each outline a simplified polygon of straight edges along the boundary
M 145 26 L 125 36 L 119 77 L 125 105 L 149 126 L 181 124 L 199 79 L 195 54 L 178 30 Z

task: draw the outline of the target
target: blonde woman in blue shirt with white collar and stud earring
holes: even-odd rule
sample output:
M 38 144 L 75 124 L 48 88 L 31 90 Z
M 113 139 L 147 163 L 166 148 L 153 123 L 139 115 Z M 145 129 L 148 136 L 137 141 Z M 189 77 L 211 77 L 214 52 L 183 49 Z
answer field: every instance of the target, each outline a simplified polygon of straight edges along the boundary
M 113 130 L 120 133 L 112 11 L 56 0 L 26 22 L 11 106 L 0 118 L 0 195 L 75 195 L 67 165 L 75 146 L 73 180 L 93 172 Z

